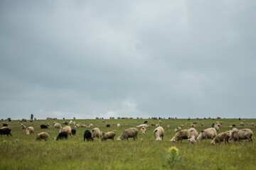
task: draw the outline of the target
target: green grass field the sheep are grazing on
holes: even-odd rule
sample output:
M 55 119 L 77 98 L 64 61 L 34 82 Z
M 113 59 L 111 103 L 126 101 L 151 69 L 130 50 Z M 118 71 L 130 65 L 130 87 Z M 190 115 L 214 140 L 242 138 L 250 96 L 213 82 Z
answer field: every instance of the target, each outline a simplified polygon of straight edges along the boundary
M 244 119 L 242 119 L 244 120 Z M 6 122 L 11 128 L 13 137 L 3 135 L 0 137 L 0 169 L 256 169 L 255 143 L 243 140 L 242 142 L 230 142 L 225 145 L 210 145 L 211 140 L 197 142 L 196 145 L 188 145 L 188 140 L 182 144 L 171 143 L 176 126 L 185 125 L 188 128 L 195 120 L 161 120 L 164 127 L 164 141 L 154 141 L 154 128 L 147 128 L 146 135 L 141 135 L 140 129 L 138 140 L 129 142 L 117 142 L 117 137 L 123 130 L 136 127 L 144 123 L 144 120 L 106 120 L 106 123 L 97 123 L 97 120 L 76 120 L 76 123 L 85 125 L 93 124 L 93 128 L 100 128 L 102 132 L 114 131 L 114 141 L 107 142 L 84 142 L 83 133 L 92 128 L 76 128 L 76 135 L 68 140 L 55 141 L 58 129 L 53 128 L 53 122 L 62 125 L 63 120 L 36 120 L 32 123 L 23 123 L 26 128 L 35 128 L 34 135 L 26 135 L 26 130 L 21 130 L 21 123 L 13 120 Z M 65 120 L 69 122 L 69 120 Z M 246 119 L 248 125 L 240 126 L 238 119 L 221 119 L 223 122 L 220 132 L 231 130 L 230 125 L 237 125 L 238 129 L 250 128 L 254 135 L 252 140 L 256 142 L 256 128 L 251 123 L 255 119 Z M 2 123 L 3 121 L 1 121 Z M 158 120 L 148 120 L 148 124 L 158 123 Z M 196 130 L 210 128 L 216 120 L 200 120 Z M 41 130 L 41 124 L 50 123 L 48 130 Z M 117 123 L 121 125 L 117 128 Z M 205 126 L 201 127 L 201 123 Z M 110 128 L 106 125 L 110 124 Z M 171 128 L 167 129 L 166 126 Z M 62 125 L 64 126 L 64 125 Z M 71 128 L 74 128 L 71 125 Z M 48 132 L 48 141 L 35 141 L 36 134 Z M 171 162 L 170 147 L 178 148 L 178 156 L 175 162 Z

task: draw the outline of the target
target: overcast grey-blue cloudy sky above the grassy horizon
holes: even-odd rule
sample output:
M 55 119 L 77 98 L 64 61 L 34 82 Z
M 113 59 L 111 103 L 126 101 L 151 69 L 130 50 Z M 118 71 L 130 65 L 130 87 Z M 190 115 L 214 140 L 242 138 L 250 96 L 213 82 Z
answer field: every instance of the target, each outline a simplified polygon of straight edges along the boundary
M 256 117 L 256 1 L 0 1 L 0 118 Z

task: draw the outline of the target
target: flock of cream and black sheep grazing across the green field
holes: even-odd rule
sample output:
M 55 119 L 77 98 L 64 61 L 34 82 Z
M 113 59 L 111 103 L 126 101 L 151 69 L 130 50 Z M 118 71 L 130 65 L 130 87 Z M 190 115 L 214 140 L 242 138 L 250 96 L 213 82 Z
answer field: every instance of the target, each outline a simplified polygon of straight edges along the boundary
M 146 133 L 146 128 L 149 128 L 150 125 L 146 125 L 147 121 L 144 122 L 142 125 L 138 125 L 137 128 L 141 128 L 142 135 Z M 69 124 L 75 125 L 75 128 L 78 127 L 87 127 L 86 125 L 81 125 L 81 124 L 75 124 L 75 121 L 70 120 Z M 160 126 L 161 120 L 159 120 L 159 124 L 156 124 L 156 129 L 154 129 L 154 139 L 156 141 L 161 141 L 164 139 L 164 128 Z M 196 124 L 196 123 L 194 123 Z M 68 139 L 68 135 L 72 136 L 75 135 L 76 130 L 72 129 L 68 123 L 63 122 L 63 125 L 67 125 L 64 128 L 61 127 L 60 123 L 53 123 L 53 128 L 60 129 L 60 132 L 58 134 L 58 137 L 56 140 L 61 140 L 61 139 Z M 151 124 L 154 125 L 154 124 Z M 0 135 L 11 135 L 11 129 L 8 128 L 7 124 L 3 123 L 3 128 L 0 128 Z M 47 125 L 41 125 L 41 129 L 48 128 L 50 126 L 49 124 Z M 92 128 L 92 124 L 89 125 L 89 128 Z M 110 126 L 110 125 L 109 125 Z M 202 125 L 203 126 L 203 125 Z M 117 128 L 119 128 L 120 125 L 117 124 Z M 168 125 L 167 128 L 170 126 Z M 22 129 L 26 129 L 26 134 L 31 135 L 32 133 L 34 134 L 34 128 L 33 127 L 28 127 L 26 128 L 25 125 L 21 124 Z M 132 137 L 134 140 L 137 140 L 137 135 L 139 130 L 137 128 L 129 128 L 127 130 L 124 130 L 122 134 L 117 138 L 117 141 L 120 140 L 128 140 L 129 137 Z M 174 137 L 171 138 L 171 142 L 178 142 L 182 140 L 188 140 L 189 144 L 194 144 L 198 141 L 202 140 L 207 140 L 207 139 L 212 139 L 212 142 L 210 142 L 212 145 L 215 145 L 216 143 L 224 142 L 227 143 L 230 140 L 233 141 L 240 141 L 240 140 L 249 140 L 249 142 L 252 142 L 252 135 L 253 132 L 249 128 L 241 129 L 238 130 L 237 128 L 233 128 L 233 130 L 230 130 L 228 132 L 221 132 L 220 134 L 217 135 L 217 132 L 220 128 L 220 123 L 218 121 L 213 124 L 211 128 L 207 128 L 205 130 L 202 130 L 200 134 L 198 135 L 198 132 L 196 131 L 195 126 L 193 124 L 191 125 L 191 128 L 181 130 L 180 127 L 177 127 L 175 129 L 176 134 Z M 91 131 L 90 130 L 85 130 L 84 132 L 84 141 L 93 141 L 96 137 L 100 140 L 100 142 L 105 141 L 105 140 L 114 140 L 115 137 L 115 132 L 101 132 L 99 128 L 94 128 Z M 12 135 L 11 135 L 12 136 Z M 47 132 L 41 132 L 36 135 L 36 140 L 48 140 L 48 133 Z

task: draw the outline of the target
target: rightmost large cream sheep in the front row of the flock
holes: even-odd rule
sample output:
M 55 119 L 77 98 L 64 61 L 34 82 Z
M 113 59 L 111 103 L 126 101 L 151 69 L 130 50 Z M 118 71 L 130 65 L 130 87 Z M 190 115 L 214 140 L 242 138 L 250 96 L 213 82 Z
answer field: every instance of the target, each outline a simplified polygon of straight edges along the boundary
M 237 128 L 233 128 L 230 132 L 230 140 L 234 140 L 235 142 L 241 140 L 249 140 L 252 141 L 253 132 L 250 129 L 242 129 L 238 130 Z

